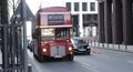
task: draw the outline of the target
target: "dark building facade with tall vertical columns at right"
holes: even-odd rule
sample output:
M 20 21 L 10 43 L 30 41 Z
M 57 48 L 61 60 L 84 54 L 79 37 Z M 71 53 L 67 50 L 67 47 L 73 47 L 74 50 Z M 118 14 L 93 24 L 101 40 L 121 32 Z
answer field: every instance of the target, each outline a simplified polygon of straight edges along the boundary
M 133 44 L 133 0 L 99 0 L 100 42 Z

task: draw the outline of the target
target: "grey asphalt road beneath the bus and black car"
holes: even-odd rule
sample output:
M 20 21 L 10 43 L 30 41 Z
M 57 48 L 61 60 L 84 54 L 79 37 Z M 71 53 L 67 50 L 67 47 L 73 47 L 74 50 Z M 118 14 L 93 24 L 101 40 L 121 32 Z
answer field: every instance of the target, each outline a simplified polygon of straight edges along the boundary
M 101 50 L 91 55 L 75 55 L 74 61 L 38 62 L 29 52 L 33 72 L 133 72 L 133 53 Z

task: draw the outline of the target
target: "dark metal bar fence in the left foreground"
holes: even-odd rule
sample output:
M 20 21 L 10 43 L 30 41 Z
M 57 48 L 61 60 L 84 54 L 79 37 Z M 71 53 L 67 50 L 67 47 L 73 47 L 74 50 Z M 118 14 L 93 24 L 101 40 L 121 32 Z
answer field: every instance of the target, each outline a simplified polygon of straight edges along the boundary
M 0 28 L 2 28 L 3 72 L 23 72 L 22 25 L 0 24 Z

